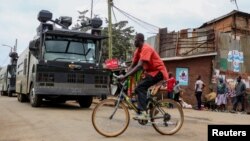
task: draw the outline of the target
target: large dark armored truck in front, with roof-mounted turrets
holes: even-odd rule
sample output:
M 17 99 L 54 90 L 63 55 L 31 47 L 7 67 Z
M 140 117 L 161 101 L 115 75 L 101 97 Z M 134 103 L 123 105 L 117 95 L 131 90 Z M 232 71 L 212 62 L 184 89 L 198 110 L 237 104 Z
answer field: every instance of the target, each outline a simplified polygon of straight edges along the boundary
M 76 100 L 88 108 L 94 96 L 109 93 L 110 72 L 100 65 L 101 41 L 106 37 L 70 30 L 71 17 L 52 20 L 47 10 L 39 12 L 38 20 L 37 35 L 17 62 L 18 101 L 39 107 L 44 100 Z M 101 24 L 93 19 L 89 25 Z

